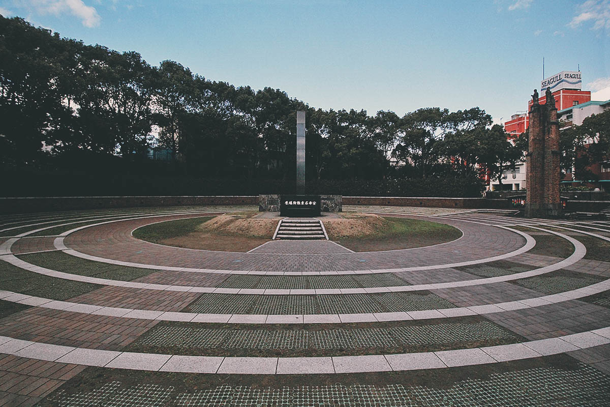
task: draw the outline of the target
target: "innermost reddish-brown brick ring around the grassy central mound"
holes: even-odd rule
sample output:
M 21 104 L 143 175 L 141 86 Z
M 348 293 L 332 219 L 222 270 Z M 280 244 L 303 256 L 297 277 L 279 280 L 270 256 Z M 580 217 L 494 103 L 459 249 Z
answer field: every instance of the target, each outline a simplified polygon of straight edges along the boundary
M 178 218 L 178 216 L 156 218 L 156 222 L 172 218 Z M 82 229 L 66 237 L 65 245 L 76 251 L 93 256 L 142 264 L 220 270 L 315 272 L 319 270 L 370 270 L 376 268 L 445 264 L 448 262 L 448 259 L 450 259 L 449 262 L 470 261 L 509 253 L 517 250 L 524 244 L 523 237 L 503 229 L 468 223 L 458 224 L 452 220 L 442 220 L 442 222 L 459 226 L 459 228 L 464 230 L 465 236 L 462 239 L 437 247 L 423 247 L 381 253 L 329 253 L 317 255 L 314 251 L 314 253 L 309 254 L 290 254 L 280 257 L 277 254 L 257 253 L 257 251 L 252 253 L 218 253 L 160 247 L 134 239 L 131 236 L 133 229 L 151 223 L 149 219 L 129 220 Z M 273 243 L 273 245 L 275 244 Z M 296 245 L 298 243 L 291 242 L 289 244 Z M 322 244 L 331 245 L 332 243 L 323 242 Z M 264 250 L 268 245 L 260 249 Z M 339 248 L 336 245 L 332 246 Z M 304 248 L 296 250 L 296 253 L 306 253 L 307 248 L 312 247 L 310 243 L 306 242 L 304 243 Z M 315 250 L 319 249 L 316 248 Z

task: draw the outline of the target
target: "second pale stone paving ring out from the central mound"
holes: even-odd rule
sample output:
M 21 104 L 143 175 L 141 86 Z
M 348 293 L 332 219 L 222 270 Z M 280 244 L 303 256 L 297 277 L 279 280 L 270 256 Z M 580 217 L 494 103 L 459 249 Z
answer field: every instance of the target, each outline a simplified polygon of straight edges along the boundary
M 532 227 L 533 228 L 533 227 Z M 449 289 L 456 287 L 468 287 L 468 286 L 479 286 L 483 284 L 493 284 L 493 283 L 501 283 L 505 281 L 511 281 L 515 279 L 528 278 L 532 276 L 537 276 L 545 273 L 554 272 L 555 270 L 559 270 L 561 268 L 569 267 L 572 264 L 580 261 L 587 253 L 586 247 L 584 247 L 583 243 L 578 242 L 578 240 L 573 239 L 570 236 L 565 236 L 559 232 L 550 231 L 542 228 L 534 228 L 542 231 L 549 232 L 551 234 L 555 234 L 563 239 L 568 240 L 574 246 L 575 250 L 568 257 L 559 261 L 555 264 L 547 265 L 545 267 L 535 268 L 534 270 L 528 270 L 526 272 L 513 273 L 504 276 L 496 276 L 496 277 L 488 277 L 488 278 L 477 278 L 477 279 L 468 279 L 462 281 L 451 281 L 448 283 L 431 283 L 431 284 L 415 284 L 411 286 L 390 286 L 390 287 L 361 287 L 361 288 L 346 288 L 346 289 L 290 289 L 290 290 L 282 290 L 282 289 L 239 289 L 239 288 L 225 288 L 225 287 L 204 287 L 204 286 L 177 286 L 177 285 L 168 285 L 168 284 L 152 284 L 152 283 L 135 283 L 132 281 L 122 281 L 122 280 L 113 280 L 106 278 L 97 278 L 91 276 L 82 276 L 77 274 L 58 272 L 56 270 L 50 270 L 49 268 L 40 267 L 35 264 L 28 263 L 24 260 L 21 260 L 14 256 L 13 254 L 4 254 L 0 256 L 0 259 L 5 262 L 9 262 L 16 267 L 23 268 L 25 270 L 29 270 L 30 272 L 68 279 L 72 281 L 81 281 L 84 283 L 92 283 L 92 284 L 101 284 L 105 286 L 117 286 L 117 287 L 131 287 L 137 289 L 147 289 L 147 290 L 168 290 L 168 291 L 188 291 L 188 292 L 205 292 L 205 293 L 220 293 L 220 294 L 235 294 L 235 295 L 253 295 L 253 294 L 262 294 L 262 295 L 278 295 L 278 294 L 287 294 L 287 295 L 336 295 L 336 294 L 374 294 L 374 293 L 382 293 L 382 292 L 411 292 L 411 291 L 422 291 L 422 290 L 439 290 L 439 289 Z M 601 237 L 601 236 L 600 236 Z M 57 238 L 61 239 L 61 238 Z M 57 250 L 63 250 L 68 253 L 70 250 L 65 250 L 65 246 L 63 246 L 63 240 L 57 241 L 56 239 L 56 248 Z M 0 248 L 1 250 L 1 248 Z M 1 251 L 0 251 L 1 253 Z M 176 267 L 178 268 L 178 267 Z M 403 269 L 401 269 L 403 270 Z M 424 268 L 423 270 L 426 270 Z M 240 274 L 244 274 L 243 272 Z M 248 273 L 249 274 L 249 273 Z M 362 273 L 358 273 L 361 275 Z

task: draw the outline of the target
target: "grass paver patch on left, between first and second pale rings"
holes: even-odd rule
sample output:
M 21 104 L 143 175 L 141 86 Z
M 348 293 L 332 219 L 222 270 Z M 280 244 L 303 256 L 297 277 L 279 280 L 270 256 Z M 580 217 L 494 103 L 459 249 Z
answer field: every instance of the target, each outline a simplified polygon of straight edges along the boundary
M 121 281 L 132 281 L 160 271 L 81 259 L 70 256 L 70 254 L 66 254 L 60 250 L 47 251 L 45 253 L 20 254 L 17 257 L 28 263 L 56 270 L 58 272 Z

